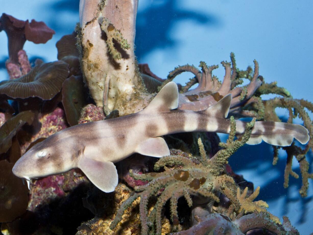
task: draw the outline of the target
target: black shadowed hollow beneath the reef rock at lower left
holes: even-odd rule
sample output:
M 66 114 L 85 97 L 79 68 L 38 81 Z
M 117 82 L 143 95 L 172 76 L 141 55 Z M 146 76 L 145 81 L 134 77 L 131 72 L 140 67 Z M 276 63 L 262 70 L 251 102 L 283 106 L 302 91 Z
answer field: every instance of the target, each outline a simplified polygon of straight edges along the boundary
M 80 184 L 69 195 L 51 199 L 47 204 L 44 201 L 49 197 L 33 198 L 40 202 L 39 206 L 34 212 L 27 211 L 20 219 L 8 223 L 10 230 L 14 231 L 12 234 L 76 234 L 77 227 L 82 222 L 94 218 L 94 215 L 84 207 L 82 200 L 89 189 L 88 185 Z M 44 189 L 38 187 L 38 190 Z

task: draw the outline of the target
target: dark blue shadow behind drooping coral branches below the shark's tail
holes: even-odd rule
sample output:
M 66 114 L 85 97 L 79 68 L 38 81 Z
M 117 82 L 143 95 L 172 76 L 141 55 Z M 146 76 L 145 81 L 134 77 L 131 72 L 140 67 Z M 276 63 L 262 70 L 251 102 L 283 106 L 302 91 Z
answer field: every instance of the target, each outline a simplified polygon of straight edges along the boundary
M 307 154 L 306 159 L 310 164 L 312 161 L 312 152 L 309 152 Z M 257 172 L 258 175 L 264 175 L 266 171 L 270 170 L 270 168 L 259 168 L 259 164 L 268 163 L 269 165 L 272 165 L 272 161 L 273 149 L 271 145 L 264 142 L 258 145 L 246 144 L 229 158 L 229 164 L 232 166 L 234 172 L 238 172 L 239 170 L 246 170 L 247 168 L 249 168 L 249 170 Z M 284 209 L 280 212 L 280 214 L 276 214 L 276 216 L 278 217 L 281 217 L 288 212 L 288 203 L 299 200 L 298 192 L 295 195 L 295 193 L 291 193 L 291 190 L 289 190 L 288 188 L 285 189 L 283 186 L 285 165 L 286 158 L 279 159 L 276 165 L 271 166 L 275 171 L 279 172 L 279 176 L 275 177 L 272 180 L 264 179 L 264 181 L 266 181 L 266 184 L 262 186 L 260 194 L 256 199 L 269 202 L 271 200 L 276 200 L 283 197 L 284 205 L 282 206 L 282 208 Z M 302 184 L 300 169 L 299 167 L 297 167 L 293 170 L 299 175 L 299 179 L 295 179 L 294 177 L 290 176 L 289 187 L 296 188 L 297 191 L 299 191 Z M 309 172 L 311 171 L 312 169 L 310 168 Z M 271 177 L 269 176 L 269 178 Z M 309 183 L 312 183 L 312 180 L 309 179 Z M 256 188 L 257 186 L 259 185 L 254 183 L 254 188 Z M 302 224 L 308 222 L 309 218 L 306 215 L 308 211 L 311 210 L 310 205 L 312 204 L 312 200 L 313 197 L 310 195 L 306 198 L 300 198 L 301 206 L 299 208 L 295 208 L 295 211 L 297 211 L 297 213 L 300 211 L 301 214 L 301 217 L 297 221 L 298 223 Z

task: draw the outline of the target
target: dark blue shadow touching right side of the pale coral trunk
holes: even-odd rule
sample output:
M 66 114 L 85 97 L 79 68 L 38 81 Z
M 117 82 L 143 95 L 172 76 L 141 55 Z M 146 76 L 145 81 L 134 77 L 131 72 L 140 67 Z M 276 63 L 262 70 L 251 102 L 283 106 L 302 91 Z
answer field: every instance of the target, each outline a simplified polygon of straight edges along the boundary
M 218 19 L 213 15 L 180 9 L 179 0 L 164 1 L 164 4 L 157 3 L 152 2 L 148 8 L 137 14 L 135 53 L 139 60 L 152 50 L 175 46 L 176 42 L 171 39 L 170 30 L 181 20 L 193 20 L 197 24 L 206 26 L 219 24 Z

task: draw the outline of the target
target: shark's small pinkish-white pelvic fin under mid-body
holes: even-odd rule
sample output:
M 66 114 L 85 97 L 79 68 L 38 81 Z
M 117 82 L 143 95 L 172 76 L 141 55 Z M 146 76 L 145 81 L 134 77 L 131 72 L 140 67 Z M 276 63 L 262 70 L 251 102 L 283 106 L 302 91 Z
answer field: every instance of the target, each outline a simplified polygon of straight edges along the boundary
M 170 155 L 170 150 L 162 137 L 148 138 L 137 146 L 135 152 L 157 158 Z

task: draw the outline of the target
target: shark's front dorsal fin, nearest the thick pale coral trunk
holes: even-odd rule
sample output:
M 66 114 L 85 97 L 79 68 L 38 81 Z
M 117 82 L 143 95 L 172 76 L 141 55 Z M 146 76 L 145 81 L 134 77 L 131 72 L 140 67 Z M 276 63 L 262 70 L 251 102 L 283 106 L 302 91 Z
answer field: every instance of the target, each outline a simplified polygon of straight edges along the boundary
M 178 107 L 178 87 L 173 81 L 167 83 L 143 112 L 167 112 Z

